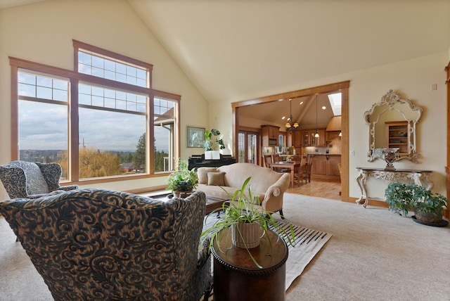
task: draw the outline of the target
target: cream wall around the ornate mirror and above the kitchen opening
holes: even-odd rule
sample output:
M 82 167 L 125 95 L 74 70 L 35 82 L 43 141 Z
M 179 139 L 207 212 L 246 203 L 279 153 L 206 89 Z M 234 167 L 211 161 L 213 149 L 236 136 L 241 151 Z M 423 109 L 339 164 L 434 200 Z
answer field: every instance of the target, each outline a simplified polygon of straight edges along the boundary
M 434 191 L 446 194 L 446 87 L 444 67 L 449 63 L 448 53 L 437 53 L 413 60 L 382 65 L 366 70 L 320 79 L 314 82 L 300 83 L 297 87 L 282 87 L 272 94 L 295 91 L 308 87 L 316 87 L 333 82 L 350 81 L 349 87 L 349 150 L 354 156 L 349 157 L 349 196 L 359 198 L 359 187 L 354 181 L 356 167 L 385 167 L 385 162 L 377 160 L 367 162 L 368 126 L 364 121 L 364 112 L 390 89 L 398 91 L 405 98 L 411 99 L 416 105 L 423 106 L 423 115 L 418 123 L 417 147 L 420 154 L 419 163 L 396 162 L 397 168 L 432 170 Z M 437 84 L 437 90 L 432 91 L 431 85 Z M 255 95 L 261 97 L 262 95 Z M 231 115 L 228 119 L 219 118 L 224 112 L 231 112 L 231 103 L 245 99 L 231 99 L 230 103 L 214 103 L 210 105 L 212 127 L 231 130 Z M 220 114 L 218 114 L 220 112 Z M 387 184 L 377 179 L 367 181 L 369 196 L 384 199 Z

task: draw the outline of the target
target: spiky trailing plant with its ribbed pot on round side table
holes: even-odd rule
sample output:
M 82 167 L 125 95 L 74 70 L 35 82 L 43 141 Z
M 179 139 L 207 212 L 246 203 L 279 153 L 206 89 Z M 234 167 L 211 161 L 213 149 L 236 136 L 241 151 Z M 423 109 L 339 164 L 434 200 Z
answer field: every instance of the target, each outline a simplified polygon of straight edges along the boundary
M 217 222 L 214 222 L 209 229 L 203 231 L 202 238 L 204 240 L 209 239 L 210 248 L 212 248 L 215 239 L 220 241 L 221 236 L 229 235 L 229 233 L 231 233 L 233 245 L 236 245 L 238 248 L 245 248 L 256 266 L 259 269 L 262 269 L 249 249 L 259 245 L 259 240 L 266 234 L 269 227 L 278 232 L 278 234 L 284 234 L 284 236 L 288 238 L 288 243 L 290 243 L 290 245 L 294 245 L 295 243 L 295 233 L 291 225 L 290 233 L 286 233 L 285 229 L 283 229 L 272 216 L 276 213 L 268 212 L 259 206 L 260 200 L 258 197 L 252 198 L 250 187 L 248 188 L 248 191 L 245 191 L 250 179 L 251 177 L 248 177 L 244 181 L 242 188 L 235 191 L 232 196 L 221 187 L 229 194 L 229 199 L 231 201 L 224 203 L 222 207 L 218 209 L 224 211 L 224 216 L 218 219 Z M 229 229 L 230 231 L 224 231 L 226 229 Z M 282 238 L 278 236 L 278 239 Z M 220 248 L 219 244 L 218 246 Z M 222 250 L 220 251 L 223 252 Z

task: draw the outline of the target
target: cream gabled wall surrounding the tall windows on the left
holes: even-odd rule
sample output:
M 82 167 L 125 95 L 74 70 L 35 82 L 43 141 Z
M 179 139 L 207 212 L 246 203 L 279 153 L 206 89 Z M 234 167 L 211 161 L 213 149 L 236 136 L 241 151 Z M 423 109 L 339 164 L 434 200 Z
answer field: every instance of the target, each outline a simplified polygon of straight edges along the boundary
M 73 70 L 72 39 L 153 64 L 153 88 L 181 95 L 181 159 L 203 152 L 186 148 L 186 126 L 207 127 L 207 101 L 127 1 L 44 1 L 0 10 L 0 164 L 11 161 L 8 56 Z M 96 187 L 124 191 L 165 184 L 166 177 L 157 177 Z

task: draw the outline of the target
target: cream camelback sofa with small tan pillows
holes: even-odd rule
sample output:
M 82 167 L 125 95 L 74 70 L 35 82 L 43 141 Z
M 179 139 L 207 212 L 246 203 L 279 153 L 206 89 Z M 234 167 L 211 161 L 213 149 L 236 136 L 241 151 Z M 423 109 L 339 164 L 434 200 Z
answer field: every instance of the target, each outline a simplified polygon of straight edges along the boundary
M 251 177 L 246 190 L 250 187 L 252 196 L 259 197 L 264 210 L 283 215 L 283 193 L 290 184 L 288 173 L 274 172 L 251 163 L 234 163 L 217 168 L 199 167 L 197 174 L 197 190 L 205 192 L 209 202 L 229 200 L 229 194 L 232 196 L 242 188 L 245 179 Z

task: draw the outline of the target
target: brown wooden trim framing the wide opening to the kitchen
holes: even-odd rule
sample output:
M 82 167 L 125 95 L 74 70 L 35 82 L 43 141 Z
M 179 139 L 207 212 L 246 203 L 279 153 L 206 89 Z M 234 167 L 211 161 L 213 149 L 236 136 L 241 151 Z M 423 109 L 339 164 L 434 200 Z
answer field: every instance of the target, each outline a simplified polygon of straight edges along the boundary
M 349 81 L 338 82 L 334 84 L 327 84 L 319 87 L 312 87 L 308 89 L 302 89 L 297 91 L 285 92 L 282 94 L 275 94 L 271 96 L 264 96 L 255 99 L 250 99 L 248 101 L 240 101 L 237 103 L 231 103 L 231 110 L 233 116 L 233 151 L 234 153 L 239 153 L 238 150 L 238 134 L 240 129 L 239 122 L 239 108 L 248 105 L 258 105 L 262 103 L 273 103 L 275 101 L 280 101 L 281 99 L 298 98 L 302 96 L 312 96 L 314 94 L 328 94 L 331 92 L 340 92 L 342 95 L 342 154 L 341 154 L 341 164 L 342 164 L 342 174 L 341 174 L 341 184 L 342 184 L 342 194 L 341 199 L 344 201 L 349 201 L 349 131 L 348 131 L 348 96 L 349 96 Z

